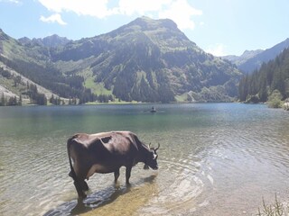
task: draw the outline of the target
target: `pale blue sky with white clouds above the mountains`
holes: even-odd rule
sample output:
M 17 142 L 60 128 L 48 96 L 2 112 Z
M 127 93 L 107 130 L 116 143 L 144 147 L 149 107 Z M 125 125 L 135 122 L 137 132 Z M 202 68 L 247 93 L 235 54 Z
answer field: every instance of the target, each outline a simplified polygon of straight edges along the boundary
M 200 49 L 239 56 L 289 38 L 288 9 L 289 0 L 0 0 L 0 29 L 14 39 L 79 40 L 141 16 L 168 18 Z

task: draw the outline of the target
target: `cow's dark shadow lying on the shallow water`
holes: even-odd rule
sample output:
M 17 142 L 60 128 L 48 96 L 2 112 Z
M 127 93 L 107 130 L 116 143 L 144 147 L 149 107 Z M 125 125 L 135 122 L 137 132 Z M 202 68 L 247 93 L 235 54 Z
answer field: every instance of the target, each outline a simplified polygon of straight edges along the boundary
M 107 187 L 106 189 L 89 194 L 89 196 L 83 201 L 74 200 L 65 202 L 55 209 L 47 211 L 44 216 L 78 215 L 80 213 L 92 211 L 116 201 L 117 198 L 121 195 L 129 193 L 134 188 L 134 186 L 141 186 L 141 184 L 145 183 L 153 184 L 155 177 L 156 175 L 150 175 L 140 179 L 135 184 L 126 184 L 125 186 L 114 184 L 113 186 Z

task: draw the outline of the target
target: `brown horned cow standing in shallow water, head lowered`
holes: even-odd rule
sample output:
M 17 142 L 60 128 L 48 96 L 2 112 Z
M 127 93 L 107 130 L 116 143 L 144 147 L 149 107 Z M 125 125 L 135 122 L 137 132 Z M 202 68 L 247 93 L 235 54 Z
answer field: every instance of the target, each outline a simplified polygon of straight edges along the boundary
M 70 159 L 70 176 L 79 194 L 86 197 L 84 191 L 89 190 L 85 179 L 94 173 L 114 173 L 115 182 L 119 176 L 119 168 L 126 166 L 126 184 L 129 184 L 131 169 L 138 162 L 144 168 L 150 166 L 157 169 L 157 148 L 144 145 L 130 131 L 111 131 L 96 134 L 79 133 L 68 139 L 67 150 Z M 72 161 L 71 161 L 72 158 Z

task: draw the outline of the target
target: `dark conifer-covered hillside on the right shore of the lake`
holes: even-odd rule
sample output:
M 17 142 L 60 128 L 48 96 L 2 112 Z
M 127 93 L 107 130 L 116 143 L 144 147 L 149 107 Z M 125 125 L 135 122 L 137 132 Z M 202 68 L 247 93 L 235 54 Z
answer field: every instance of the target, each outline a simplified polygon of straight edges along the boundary
M 289 97 L 289 49 L 240 80 L 240 101 L 266 102 L 273 93 L 282 100 Z

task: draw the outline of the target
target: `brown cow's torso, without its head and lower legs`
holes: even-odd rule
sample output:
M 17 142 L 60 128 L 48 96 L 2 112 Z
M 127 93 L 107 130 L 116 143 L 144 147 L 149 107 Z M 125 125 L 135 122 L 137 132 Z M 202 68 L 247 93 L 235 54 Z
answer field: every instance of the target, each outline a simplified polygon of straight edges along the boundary
M 75 172 L 86 173 L 89 178 L 95 172 L 110 173 L 120 166 L 135 164 L 138 157 L 135 137 L 129 131 L 74 135 L 69 142 Z

